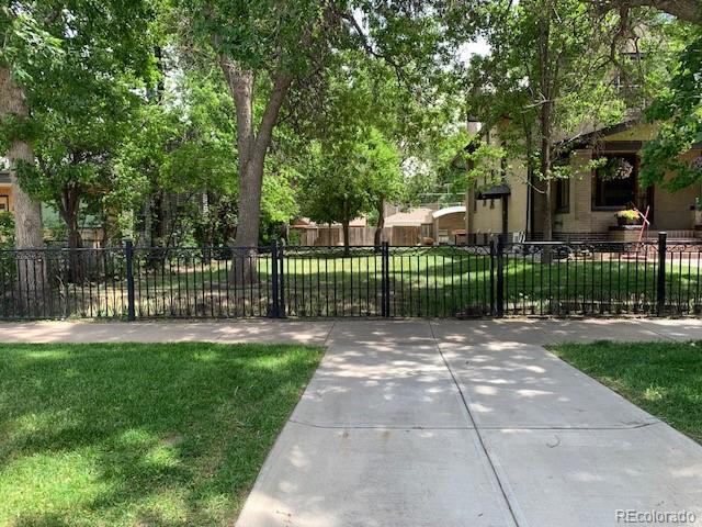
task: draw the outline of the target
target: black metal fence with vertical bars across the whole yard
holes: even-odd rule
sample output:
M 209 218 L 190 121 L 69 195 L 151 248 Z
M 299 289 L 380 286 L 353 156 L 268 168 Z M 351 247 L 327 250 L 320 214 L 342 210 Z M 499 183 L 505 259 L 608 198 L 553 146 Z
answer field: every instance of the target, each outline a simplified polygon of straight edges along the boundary
M 702 244 L 0 251 L 0 318 L 702 314 Z

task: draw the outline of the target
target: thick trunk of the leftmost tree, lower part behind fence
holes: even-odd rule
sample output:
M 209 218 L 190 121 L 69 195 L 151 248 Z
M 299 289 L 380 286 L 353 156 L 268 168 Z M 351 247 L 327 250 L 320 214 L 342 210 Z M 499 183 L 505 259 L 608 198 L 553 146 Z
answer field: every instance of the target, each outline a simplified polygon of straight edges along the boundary
M 0 119 L 11 115 L 26 117 L 29 108 L 24 90 L 14 81 L 8 66 L 0 66 Z M 21 164 L 34 164 L 32 146 L 26 141 L 14 139 L 5 153 L 10 164 L 10 182 L 14 199 L 14 239 L 18 249 L 44 248 L 42 228 L 42 205 L 34 201 L 18 182 L 18 167 Z M 23 251 L 18 258 L 16 300 L 21 314 L 37 315 L 44 300 L 46 288 L 46 267 L 44 259 L 34 258 L 32 253 Z

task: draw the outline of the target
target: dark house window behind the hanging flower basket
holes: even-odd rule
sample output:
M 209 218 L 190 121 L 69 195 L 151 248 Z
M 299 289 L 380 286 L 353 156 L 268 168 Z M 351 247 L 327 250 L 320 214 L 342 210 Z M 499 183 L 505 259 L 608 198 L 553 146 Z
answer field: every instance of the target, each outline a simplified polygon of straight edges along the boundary
M 595 172 L 593 209 L 621 209 L 636 202 L 638 159 L 635 154 L 604 156 L 607 161 Z

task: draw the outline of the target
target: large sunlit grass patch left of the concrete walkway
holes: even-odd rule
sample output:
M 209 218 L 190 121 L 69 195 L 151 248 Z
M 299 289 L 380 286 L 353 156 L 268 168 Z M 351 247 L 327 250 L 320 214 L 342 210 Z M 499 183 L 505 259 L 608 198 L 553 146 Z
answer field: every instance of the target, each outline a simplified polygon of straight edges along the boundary
M 0 526 L 233 525 L 320 357 L 0 345 Z

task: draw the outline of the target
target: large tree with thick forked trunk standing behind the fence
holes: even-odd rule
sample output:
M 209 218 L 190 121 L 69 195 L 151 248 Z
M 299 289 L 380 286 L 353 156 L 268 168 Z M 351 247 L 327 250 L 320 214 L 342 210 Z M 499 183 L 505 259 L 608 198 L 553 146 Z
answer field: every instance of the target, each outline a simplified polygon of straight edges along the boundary
M 265 156 L 281 110 L 302 79 L 324 71 L 339 49 L 353 47 L 392 64 L 398 77 L 421 75 L 417 56 L 438 57 L 433 2 L 179 0 L 183 43 L 223 71 L 236 108 L 238 227 L 235 246 L 259 242 Z M 254 261 L 247 258 L 246 261 Z M 250 276 L 234 272 L 233 277 Z

